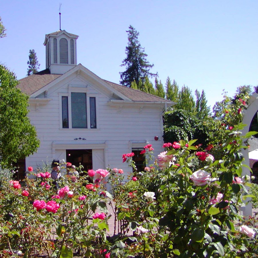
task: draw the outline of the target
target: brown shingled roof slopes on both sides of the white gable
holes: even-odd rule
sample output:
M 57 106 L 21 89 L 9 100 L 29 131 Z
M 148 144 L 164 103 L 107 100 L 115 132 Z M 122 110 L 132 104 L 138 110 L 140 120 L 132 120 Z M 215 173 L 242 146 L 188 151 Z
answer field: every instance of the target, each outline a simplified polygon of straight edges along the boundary
M 17 87 L 21 89 L 22 92 L 28 95 L 32 95 L 34 92 L 43 88 L 48 83 L 51 83 L 52 81 L 54 81 L 60 76 L 61 74 L 50 74 L 49 69 L 45 69 L 36 74 L 20 79 Z M 106 80 L 103 80 L 103 81 L 108 83 L 111 87 L 113 87 L 114 89 L 116 89 L 117 91 L 125 95 L 126 97 L 130 98 L 132 101 L 150 101 L 150 102 L 154 101 L 154 102 L 171 103 L 171 101 L 167 99 L 163 99 L 161 97 L 157 97 L 140 90 L 132 89 L 132 88 L 122 86 L 117 83 L 112 83 Z

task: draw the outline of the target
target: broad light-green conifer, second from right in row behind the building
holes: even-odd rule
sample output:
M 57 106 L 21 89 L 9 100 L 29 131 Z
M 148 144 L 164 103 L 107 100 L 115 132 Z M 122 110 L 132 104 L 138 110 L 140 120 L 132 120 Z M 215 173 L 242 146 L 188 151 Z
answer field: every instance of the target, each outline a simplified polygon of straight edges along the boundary
M 192 91 L 187 86 L 184 85 L 181 91 L 179 91 L 178 101 L 174 107 L 195 114 L 195 101 L 193 99 Z

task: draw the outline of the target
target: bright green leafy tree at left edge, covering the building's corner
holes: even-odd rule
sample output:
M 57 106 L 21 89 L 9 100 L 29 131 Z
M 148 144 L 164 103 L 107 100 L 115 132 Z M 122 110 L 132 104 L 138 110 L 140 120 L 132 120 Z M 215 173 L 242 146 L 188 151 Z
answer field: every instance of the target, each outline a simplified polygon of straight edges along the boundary
M 16 86 L 11 71 L 0 65 L 0 165 L 33 154 L 39 147 L 36 129 L 27 117 L 29 96 Z

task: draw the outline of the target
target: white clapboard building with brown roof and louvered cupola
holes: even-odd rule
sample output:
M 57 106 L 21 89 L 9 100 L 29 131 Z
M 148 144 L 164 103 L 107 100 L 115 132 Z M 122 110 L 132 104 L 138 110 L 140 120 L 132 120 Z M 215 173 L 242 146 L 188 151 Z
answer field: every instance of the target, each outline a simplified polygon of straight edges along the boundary
M 29 117 L 40 147 L 26 167 L 64 159 L 85 170 L 117 167 L 129 171 L 122 155 L 152 144 L 163 151 L 162 114 L 173 102 L 103 80 L 77 64 L 78 36 L 60 30 L 46 35 L 46 69 L 21 79 Z

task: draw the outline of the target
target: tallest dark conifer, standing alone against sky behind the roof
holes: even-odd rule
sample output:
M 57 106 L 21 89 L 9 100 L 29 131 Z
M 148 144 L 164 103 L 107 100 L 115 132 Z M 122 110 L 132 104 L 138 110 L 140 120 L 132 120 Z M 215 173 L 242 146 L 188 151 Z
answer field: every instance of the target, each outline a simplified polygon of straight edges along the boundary
M 125 66 L 126 70 L 120 72 L 120 83 L 127 87 L 131 86 L 133 81 L 139 84 L 140 79 L 144 81 L 145 77 L 157 76 L 157 73 L 151 73 L 150 69 L 154 64 L 150 64 L 144 53 L 144 48 L 138 40 L 139 32 L 137 32 L 133 26 L 129 26 L 128 33 L 128 46 L 126 46 L 126 58 L 122 61 L 121 66 Z

